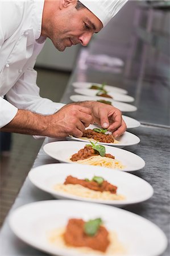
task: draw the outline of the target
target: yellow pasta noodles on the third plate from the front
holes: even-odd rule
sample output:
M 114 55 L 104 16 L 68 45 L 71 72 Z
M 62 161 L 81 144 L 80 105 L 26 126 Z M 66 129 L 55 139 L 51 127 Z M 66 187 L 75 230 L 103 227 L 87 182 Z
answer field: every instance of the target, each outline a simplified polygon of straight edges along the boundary
M 70 160 L 71 161 L 71 160 Z M 119 169 L 123 170 L 125 166 L 122 165 L 121 162 L 119 162 L 116 159 L 107 158 L 106 156 L 91 156 L 90 158 L 84 159 L 84 160 L 78 160 L 78 161 L 71 161 L 72 163 L 80 163 L 80 164 L 90 164 L 91 166 L 101 166 L 111 169 Z

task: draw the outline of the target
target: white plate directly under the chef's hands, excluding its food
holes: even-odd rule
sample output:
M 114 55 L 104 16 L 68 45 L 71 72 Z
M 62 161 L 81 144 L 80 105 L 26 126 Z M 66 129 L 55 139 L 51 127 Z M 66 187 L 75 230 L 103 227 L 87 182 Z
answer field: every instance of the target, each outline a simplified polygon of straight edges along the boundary
M 89 125 L 86 129 L 94 129 L 94 128 L 98 128 L 99 126 L 97 125 Z M 81 139 L 81 138 L 76 138 L 73 136 L 69 136 L 67 137 L 68 141 L 82 141 L 82 142 L 89 142 L 89 139 Z M 108 146 L 114 146 L 114 147 L 125 147 L 125 146 L 132 146 L 135 144 L 138 144 L 140 142 L 140 139 L 138 136 L 132 134 L 132 133 L 128 133 L 128 131 L 125 131 L 125 133 L 123 133 L 121 136 L 119 136 L 118 138 L 116 138 L 116 140 L 119 143 L 105 143 L 105 142 L 98 142 L 99 144 L 103 144 L 103 145 L 108 145 Z

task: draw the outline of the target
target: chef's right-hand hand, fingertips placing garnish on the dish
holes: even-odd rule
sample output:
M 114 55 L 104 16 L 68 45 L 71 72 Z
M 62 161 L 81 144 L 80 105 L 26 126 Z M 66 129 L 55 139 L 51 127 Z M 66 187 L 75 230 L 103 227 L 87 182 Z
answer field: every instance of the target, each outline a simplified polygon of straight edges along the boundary
M 97 101 L 80 102 L 81 104 L 82 106 L 89 106 L 92 110 L 94 122 L 111 131 L 115 138 L 125 133 L 127 127 L 119 109 Z

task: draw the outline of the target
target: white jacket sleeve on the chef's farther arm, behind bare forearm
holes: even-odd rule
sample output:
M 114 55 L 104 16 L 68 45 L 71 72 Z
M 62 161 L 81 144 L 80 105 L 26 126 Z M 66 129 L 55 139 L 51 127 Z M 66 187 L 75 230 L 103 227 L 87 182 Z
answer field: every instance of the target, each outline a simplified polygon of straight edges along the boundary
M 49 115 L 57 112 L 64 104 L 40 97 L 36 85 L 37 73 L 33 68 L 27 68 L 16 84 L 7 92 L 7 100 L 18 109 Z

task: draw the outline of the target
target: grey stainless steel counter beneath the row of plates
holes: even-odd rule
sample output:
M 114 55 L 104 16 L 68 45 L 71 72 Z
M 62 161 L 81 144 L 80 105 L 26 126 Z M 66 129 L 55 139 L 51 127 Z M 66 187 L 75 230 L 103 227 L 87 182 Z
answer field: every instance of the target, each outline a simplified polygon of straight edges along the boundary
M 92 51 L 92 49 L 90 49 L 90 51 Z M 156 79 L 156 77 L 154 83 L 146 80 L 146 76 L 144 76 L 144 79 L 138 77 L 138 75 L 135 77 L 133 71 L 128 77 L 126 77 L 125 67 L 120 73 L 103 72 L 102 68 L 100 71 L 97 71 L 94 67 L 80 69 L 80 61 L 81 56 L 78 60 L 78 66 L 69 81 L 67 90 L 65 91 L 61 101 L 65 103 L 69 102 L 69 96 L 73 94 L 71 82 L 76 80 L 92 82 L 105 81 L 108 84 L 112 84 L 114 86 L 117 85 L 121 88 L 127 89 L 129 94 L 135 97 L 135 105 L 138 106 L 138 111 L 128 115 L 136 117 L 146 125 L 142 125 L 136 129 L 131 129 L 131 132 L 138 135 L 141 141 L 138 145 L 126 147 L 125 149 L 138 154 L 146 161 L 146 166 L 140 171 L 133 172 L 133 174 L 147 180 L 154 187 L 155 192 L 154 196 L 152 196 L 150 200 L 125 207 L 125 209 L 154 222 L 164 231 L 169 240 L 170 127 L 168 87 L 165 86 L 162 80 Z M 147 123 L 151 123 L 151 125 L 148 126 Z M 47 142 L 48 139 L 45 139 L 44 143 Z M 41 148 L 35 160 L 34 167 L 47 163 L 57 163 L 57 161 L 46 155 L 43 148 Z M 49 199 L 52 199 L 52 197 L 48 195 L 48 193 L 42 192 L 38 188 L 34 187 L 27 178 L 10 210 L 10 213 L 21 205 Z M 9 215 L 2 226 L 0 234 L 1 255 L 47 255 L 20 241 L 13 232 L 11 232 L 8 218 Z M 163 253 L 163 256 L 168 255 L 169 246 Z

